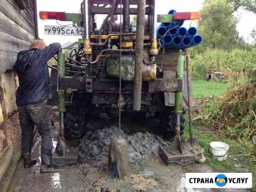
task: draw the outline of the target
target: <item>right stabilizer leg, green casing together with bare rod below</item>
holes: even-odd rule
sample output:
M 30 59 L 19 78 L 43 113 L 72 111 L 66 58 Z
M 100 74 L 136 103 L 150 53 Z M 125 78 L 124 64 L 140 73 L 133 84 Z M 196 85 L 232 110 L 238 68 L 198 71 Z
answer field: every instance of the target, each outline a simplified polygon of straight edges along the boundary
M 179 59 L 176 67 L 176 79 L 183 79 L 183 69 L 184 69 L 184 56 L 182 50 L 180 50 Z M 182 113 L 182 99 L 183 99 L 183 90 L 177 91 L 175 93 L 175 109 L 176 109 L 176 135 L 180 135 L 180 117 Z

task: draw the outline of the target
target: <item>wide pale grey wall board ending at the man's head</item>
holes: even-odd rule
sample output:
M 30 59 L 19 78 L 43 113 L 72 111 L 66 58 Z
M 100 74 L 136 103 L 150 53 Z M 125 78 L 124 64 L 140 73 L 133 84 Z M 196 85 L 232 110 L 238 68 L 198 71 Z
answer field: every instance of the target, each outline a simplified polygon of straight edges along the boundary
M 7 33 L 0 32 L 0 51 L 20 52 L 29 49 L 30 43 L 13 37 Z

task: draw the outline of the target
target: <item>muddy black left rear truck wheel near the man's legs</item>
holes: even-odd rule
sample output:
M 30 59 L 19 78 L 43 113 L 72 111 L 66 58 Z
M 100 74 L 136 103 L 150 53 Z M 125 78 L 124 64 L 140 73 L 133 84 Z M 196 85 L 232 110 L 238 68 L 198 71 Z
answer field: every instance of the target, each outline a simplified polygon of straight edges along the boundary
M 64 117 L 65 138 L 69 140 L 80 139 L 85 135 L 85 125 L 81 126 L 79 111 L 73 107 L 66 107 Z

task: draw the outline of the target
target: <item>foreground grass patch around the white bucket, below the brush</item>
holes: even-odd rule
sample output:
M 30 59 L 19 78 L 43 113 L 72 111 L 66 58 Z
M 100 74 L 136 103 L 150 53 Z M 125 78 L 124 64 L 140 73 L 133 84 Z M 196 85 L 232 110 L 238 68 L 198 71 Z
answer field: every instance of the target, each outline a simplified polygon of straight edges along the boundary
M 202 126 L 202 125 L 199 125 Z M 202 128 L 197 125 L 193 133 L 198 139 L 201 147 L 205 149 L 205 158 L 207 164 L 210 165 L 213 171 L 218 172 L 250 172 L 253 177 L 253 190 L 256 191 L 256 156 L 252 155 L 251 145 L 240 143 L 233 139 L 221 139 L 213 133 L 209 128 Z M 183 134 L 183 139 L 189 139 L 188 125 Z M 209 153 L 209 144 L 212 141 L 221 141 L 229 144 L 228 157 L 225 161 L 213 159 Z

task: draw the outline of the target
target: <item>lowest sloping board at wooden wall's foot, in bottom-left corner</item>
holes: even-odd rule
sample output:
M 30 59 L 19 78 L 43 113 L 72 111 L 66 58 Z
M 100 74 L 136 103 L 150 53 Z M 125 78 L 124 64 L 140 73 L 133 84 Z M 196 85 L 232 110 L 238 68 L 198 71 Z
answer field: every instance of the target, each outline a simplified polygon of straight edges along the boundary
M 1 192 L 7 192 L 20 159 L 21 150 L 19 150 L 15 155 L 13 155 L 9 168 L 6 170 L 3 178 L 0 180 L 0 189 L 2 190 Z

